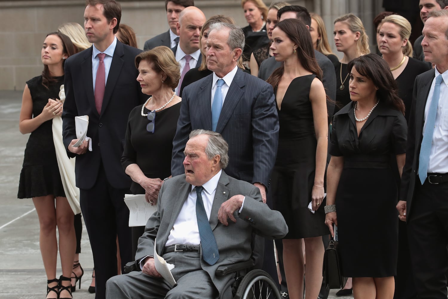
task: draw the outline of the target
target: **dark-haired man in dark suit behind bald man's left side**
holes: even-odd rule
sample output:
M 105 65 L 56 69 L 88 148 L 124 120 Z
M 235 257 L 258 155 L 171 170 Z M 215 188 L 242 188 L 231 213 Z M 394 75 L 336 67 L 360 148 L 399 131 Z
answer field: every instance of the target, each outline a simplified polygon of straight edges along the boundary
M 179 14 L 185 7 L 194 6 L 194 0 L 165 0 L 165 10 L 168 18 L 168 31 L 156 35 L 145 42 L 144 51 L 151 50 L 157 46 L 166 46 L 173 48 L 179 43 L 179 35 L 176 32 Z

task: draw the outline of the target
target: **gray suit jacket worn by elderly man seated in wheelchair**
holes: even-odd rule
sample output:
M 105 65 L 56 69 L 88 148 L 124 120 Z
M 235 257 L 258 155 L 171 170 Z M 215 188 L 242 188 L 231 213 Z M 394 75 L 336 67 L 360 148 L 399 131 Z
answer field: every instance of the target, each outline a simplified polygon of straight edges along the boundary
M 157 253 L 164 254 L 165 244 L 168 240 L 174 222 L 191 191 L 191 185 L 185 182 L 185 174 L 170 178 L 164 182 L 159 192 L 157 212 L 148 220 L 145 233 L 138 240 L 138 249 L 135 255 L 137 261 L 154 253 L 154 240 Z M 218 210 L 226 200 L 233 195 L 245 195 L 243 209 L 240 214 L 234 212 L 236 223 L 229 221 L 225 226 L 218 221 Z M 213 266 L 202 260 L 201 266 L 207 271 L 216 288 L 222 292 L 226 283 L 233 278 L 230 273 L 224 277 L 215 275 L 216 269 L 221 265 L 234 264 L 250 259 L 252 233 L 268 238 L 283 238 L 288 232 L 288 226 L 278 211 L 271 210 L 263 204 L 260 191 L 248 182 L 239 181 L 229 177 L 224 171 L 216 187 L 213 200 L 210 226 L 215 235 L 220 253 L 220 259 Z M 176 267 L 182 267 L 177 264 Z

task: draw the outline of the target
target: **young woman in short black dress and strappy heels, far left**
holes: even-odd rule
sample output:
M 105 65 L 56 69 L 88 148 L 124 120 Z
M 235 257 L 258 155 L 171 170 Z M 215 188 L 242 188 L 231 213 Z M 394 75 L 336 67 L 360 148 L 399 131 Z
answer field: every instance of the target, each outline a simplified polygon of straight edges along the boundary
M 76 248 L 74 214 L 59 173 L 52 119 L 62 114 L 62 103 L 57 98 L 64 84 L 64 62 L 74 53 L 68 36 L 60 32 L 47 35 L 41 50 L 42 75 L 26 82 L 20 111 L 19 130 L 22 134 L 31 134 L 26 143 L 17 197 L 32 198 L 39 217 L 40 252 L 47 274 L 46 298 L 72 298 L 70 276 Z M 56 226 L 62 266 L 59 282 L 56 279 Z

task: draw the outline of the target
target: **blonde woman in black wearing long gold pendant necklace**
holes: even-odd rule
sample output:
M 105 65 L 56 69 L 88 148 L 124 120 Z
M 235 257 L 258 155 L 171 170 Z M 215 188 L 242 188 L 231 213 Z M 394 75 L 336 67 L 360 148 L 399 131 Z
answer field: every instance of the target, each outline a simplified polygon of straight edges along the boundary
M 342 59 L 335 63 L 336 102 L 340 107 L 344 107 L 351 102 L 347 65 L 353 59 L 370 53 L 369 37 L 361 20 L 353 13 L 335 20 L 333 34 L 337 51 L 344 53 Z M 336 107 L 335 113 L 338 110 Z

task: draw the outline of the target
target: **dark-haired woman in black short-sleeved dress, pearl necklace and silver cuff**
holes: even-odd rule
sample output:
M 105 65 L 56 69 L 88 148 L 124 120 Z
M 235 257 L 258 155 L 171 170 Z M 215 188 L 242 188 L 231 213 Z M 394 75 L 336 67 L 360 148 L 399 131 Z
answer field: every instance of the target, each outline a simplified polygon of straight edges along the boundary
M 352 102 L 333 117 L 325 223 L 337 225 L 342 274 L 354 298 L 392 299 L 397 264 L 397 185 L 405 164 L 405 105 L 376 54 L 348 65 Z

